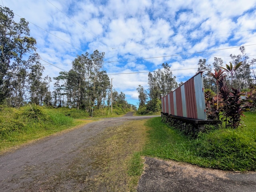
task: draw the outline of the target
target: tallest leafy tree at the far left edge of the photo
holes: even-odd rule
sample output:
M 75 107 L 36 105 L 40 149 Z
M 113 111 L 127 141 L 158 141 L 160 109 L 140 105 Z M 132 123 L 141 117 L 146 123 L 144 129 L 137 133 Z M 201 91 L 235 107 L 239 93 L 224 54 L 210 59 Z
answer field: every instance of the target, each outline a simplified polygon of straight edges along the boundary
M 0 7 L 0 103 L 12 97 L 13 106 L 20 106 L 28 68 L 36 54 L 36 40 L 30 37 L 28 22 L 24 18 L 14 22 L 14 13 L 9 8 Z M 28 58 L 28 59 L 27 59 Z

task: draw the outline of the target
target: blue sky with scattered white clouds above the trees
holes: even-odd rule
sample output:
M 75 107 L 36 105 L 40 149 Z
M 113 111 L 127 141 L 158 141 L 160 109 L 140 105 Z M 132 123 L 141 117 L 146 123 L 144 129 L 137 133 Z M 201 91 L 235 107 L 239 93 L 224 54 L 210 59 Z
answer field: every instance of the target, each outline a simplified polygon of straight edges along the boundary
M 148 72 L 171 66 L 185 82 L 199 59 L 256 58 L 256 0 L 1 0 L 15 20 L 25 18 L 37 40 L 44 75 L 68 71 L 77 55 L 105 52 L 113 88 L 138 104 Z M 53 86 L 53 85 L 52 85 Z

